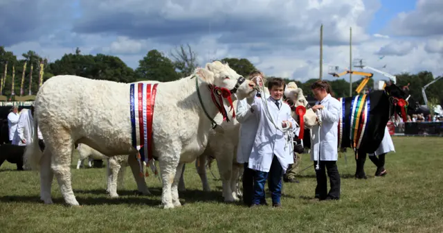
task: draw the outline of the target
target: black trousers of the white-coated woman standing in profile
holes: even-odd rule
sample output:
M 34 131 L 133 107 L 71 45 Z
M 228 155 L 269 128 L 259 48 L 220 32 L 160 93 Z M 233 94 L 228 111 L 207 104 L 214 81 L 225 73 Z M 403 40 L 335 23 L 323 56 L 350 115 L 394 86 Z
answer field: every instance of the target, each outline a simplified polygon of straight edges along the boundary
M 317 166 L 317 162 L 314 161 L 314 169 Z M 327 193 L 327 176 L 329 176 L 329 182 L 331 183 L 331 189 Z M 317 187 L 316 198 L 320 200 L 340 199 L 340 174 L 338 173 L 336 161 L 320 161 L 320 169 L 316 170 Z

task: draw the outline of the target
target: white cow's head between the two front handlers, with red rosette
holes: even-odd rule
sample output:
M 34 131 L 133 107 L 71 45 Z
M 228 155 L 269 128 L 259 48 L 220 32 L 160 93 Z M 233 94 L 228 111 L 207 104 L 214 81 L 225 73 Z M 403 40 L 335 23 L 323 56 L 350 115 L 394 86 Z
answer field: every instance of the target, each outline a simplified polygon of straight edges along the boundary
M 312 128 L 317 124 L 317 115 L 307 103 L 305 96 L 303 95 L 303 90 L 298 88 L 296 83 L 288 83 L 286 89 L 284 90 L 284 96 L 286 96 L 286 102 L 291 107 L 292 117 L 297 122 L 300 122 L 299 116 L 296 112 L 297 107 L 305 107 L 306 112 L 303 115 L 303 121 L 305 128 Z

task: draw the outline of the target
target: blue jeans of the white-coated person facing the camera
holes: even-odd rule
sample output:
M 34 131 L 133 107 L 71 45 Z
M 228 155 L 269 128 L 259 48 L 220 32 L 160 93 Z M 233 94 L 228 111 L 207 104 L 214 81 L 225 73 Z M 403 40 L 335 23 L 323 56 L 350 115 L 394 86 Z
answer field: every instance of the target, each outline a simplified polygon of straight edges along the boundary
M 269 191 L 271 191 L 272 203 L 280 203 L 280 198 L 282 196 L 282 176 L 282 165 L 278 161 L 277 156 L 274 155 L 269 173 L 264 171 L 255 171 L 253 204 L 260 205 L 266 203 L 264 196 L 264 183 L 266 183 L 266 180 L 268 180 L 268 188 Z

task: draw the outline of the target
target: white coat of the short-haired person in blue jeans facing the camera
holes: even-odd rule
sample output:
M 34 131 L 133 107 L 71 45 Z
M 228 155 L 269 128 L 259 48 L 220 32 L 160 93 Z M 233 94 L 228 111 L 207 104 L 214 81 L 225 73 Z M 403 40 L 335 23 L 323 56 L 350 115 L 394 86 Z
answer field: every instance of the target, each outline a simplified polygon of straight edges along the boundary
M 295 132 L 297 126 L 291 116 L 291 107 L 280 100 L 279 110 L 271 96 L 266 98 L 266 101 L 274 123 L 281 127 L 282 121 L 291 121 L 292 130 Z M 258 128 L 248 167 L 256 171 L 269 172 L 273 155 L 275 155 L 282 165 L 283 173 L 285 173 L 289 164 L 293 164 L 293 145 L 284 139 L 283 132 L 273 126 L 264 112 L 264 107 L 261 98 L 255 97 L 251 108 L 257 117 Z M 287 147 L 285 147 L 286 145 Z

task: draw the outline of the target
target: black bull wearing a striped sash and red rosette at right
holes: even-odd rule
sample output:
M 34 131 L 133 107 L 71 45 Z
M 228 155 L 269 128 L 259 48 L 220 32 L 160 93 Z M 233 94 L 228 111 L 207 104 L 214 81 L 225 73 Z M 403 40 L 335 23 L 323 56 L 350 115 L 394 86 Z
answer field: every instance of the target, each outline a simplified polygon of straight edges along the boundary
M 345 107 L 344 116 L 341 116 L 343 132 L 341 137 L 341 145 L 338 145 L 338 148 L 341 149 L 354 148 L 354 141 L 356 141 L 356 146 L 358 144 L 359 137 L 357 137 L 353 141 L 350 139 L 350 116 L 352 114 L 351 105 L 355 97 L 356 96 L 343 98 Z M 404 89 L 401 89 L 394 84 L 387 85 L 384 90 L 370 92 L 366 96 L 366 101 L 368 98 L 370 100 L 370 107 L 365 131 L 363 133 L 363 137 L 361 137 L 360 146 L 354 149 L 356 155 L 355 177 L 359 179 L 366 178 L 364 171 L 366 154 L 374 153 L 374 151 L 379 148 L 381 140 L 384 137 L 385 127 L 390 117 L 394 114 L 401 114 L 401 107 L 398 105 L 397 101 L 399 101 L 399 99 L 408 99 L 408 113 L 419 112 L 419 105 L 417 104 L 417 102 L 415 102 L 413 98 L 404 91 Z M 309 108 L 310 106 L 307 105 L 306 107 Z M 359 121 L 359 125 L 361 125 L 361 122 L 363 121 L 363 116 L 359 117 Z M 338 134 L 340 134 L 340 131 L 338 131 Z M 305 147 L 311 148 L 310 141 L 311 138 L 309 136 L 309 130 L 305 129 L 305 137 L 303 138 Z

